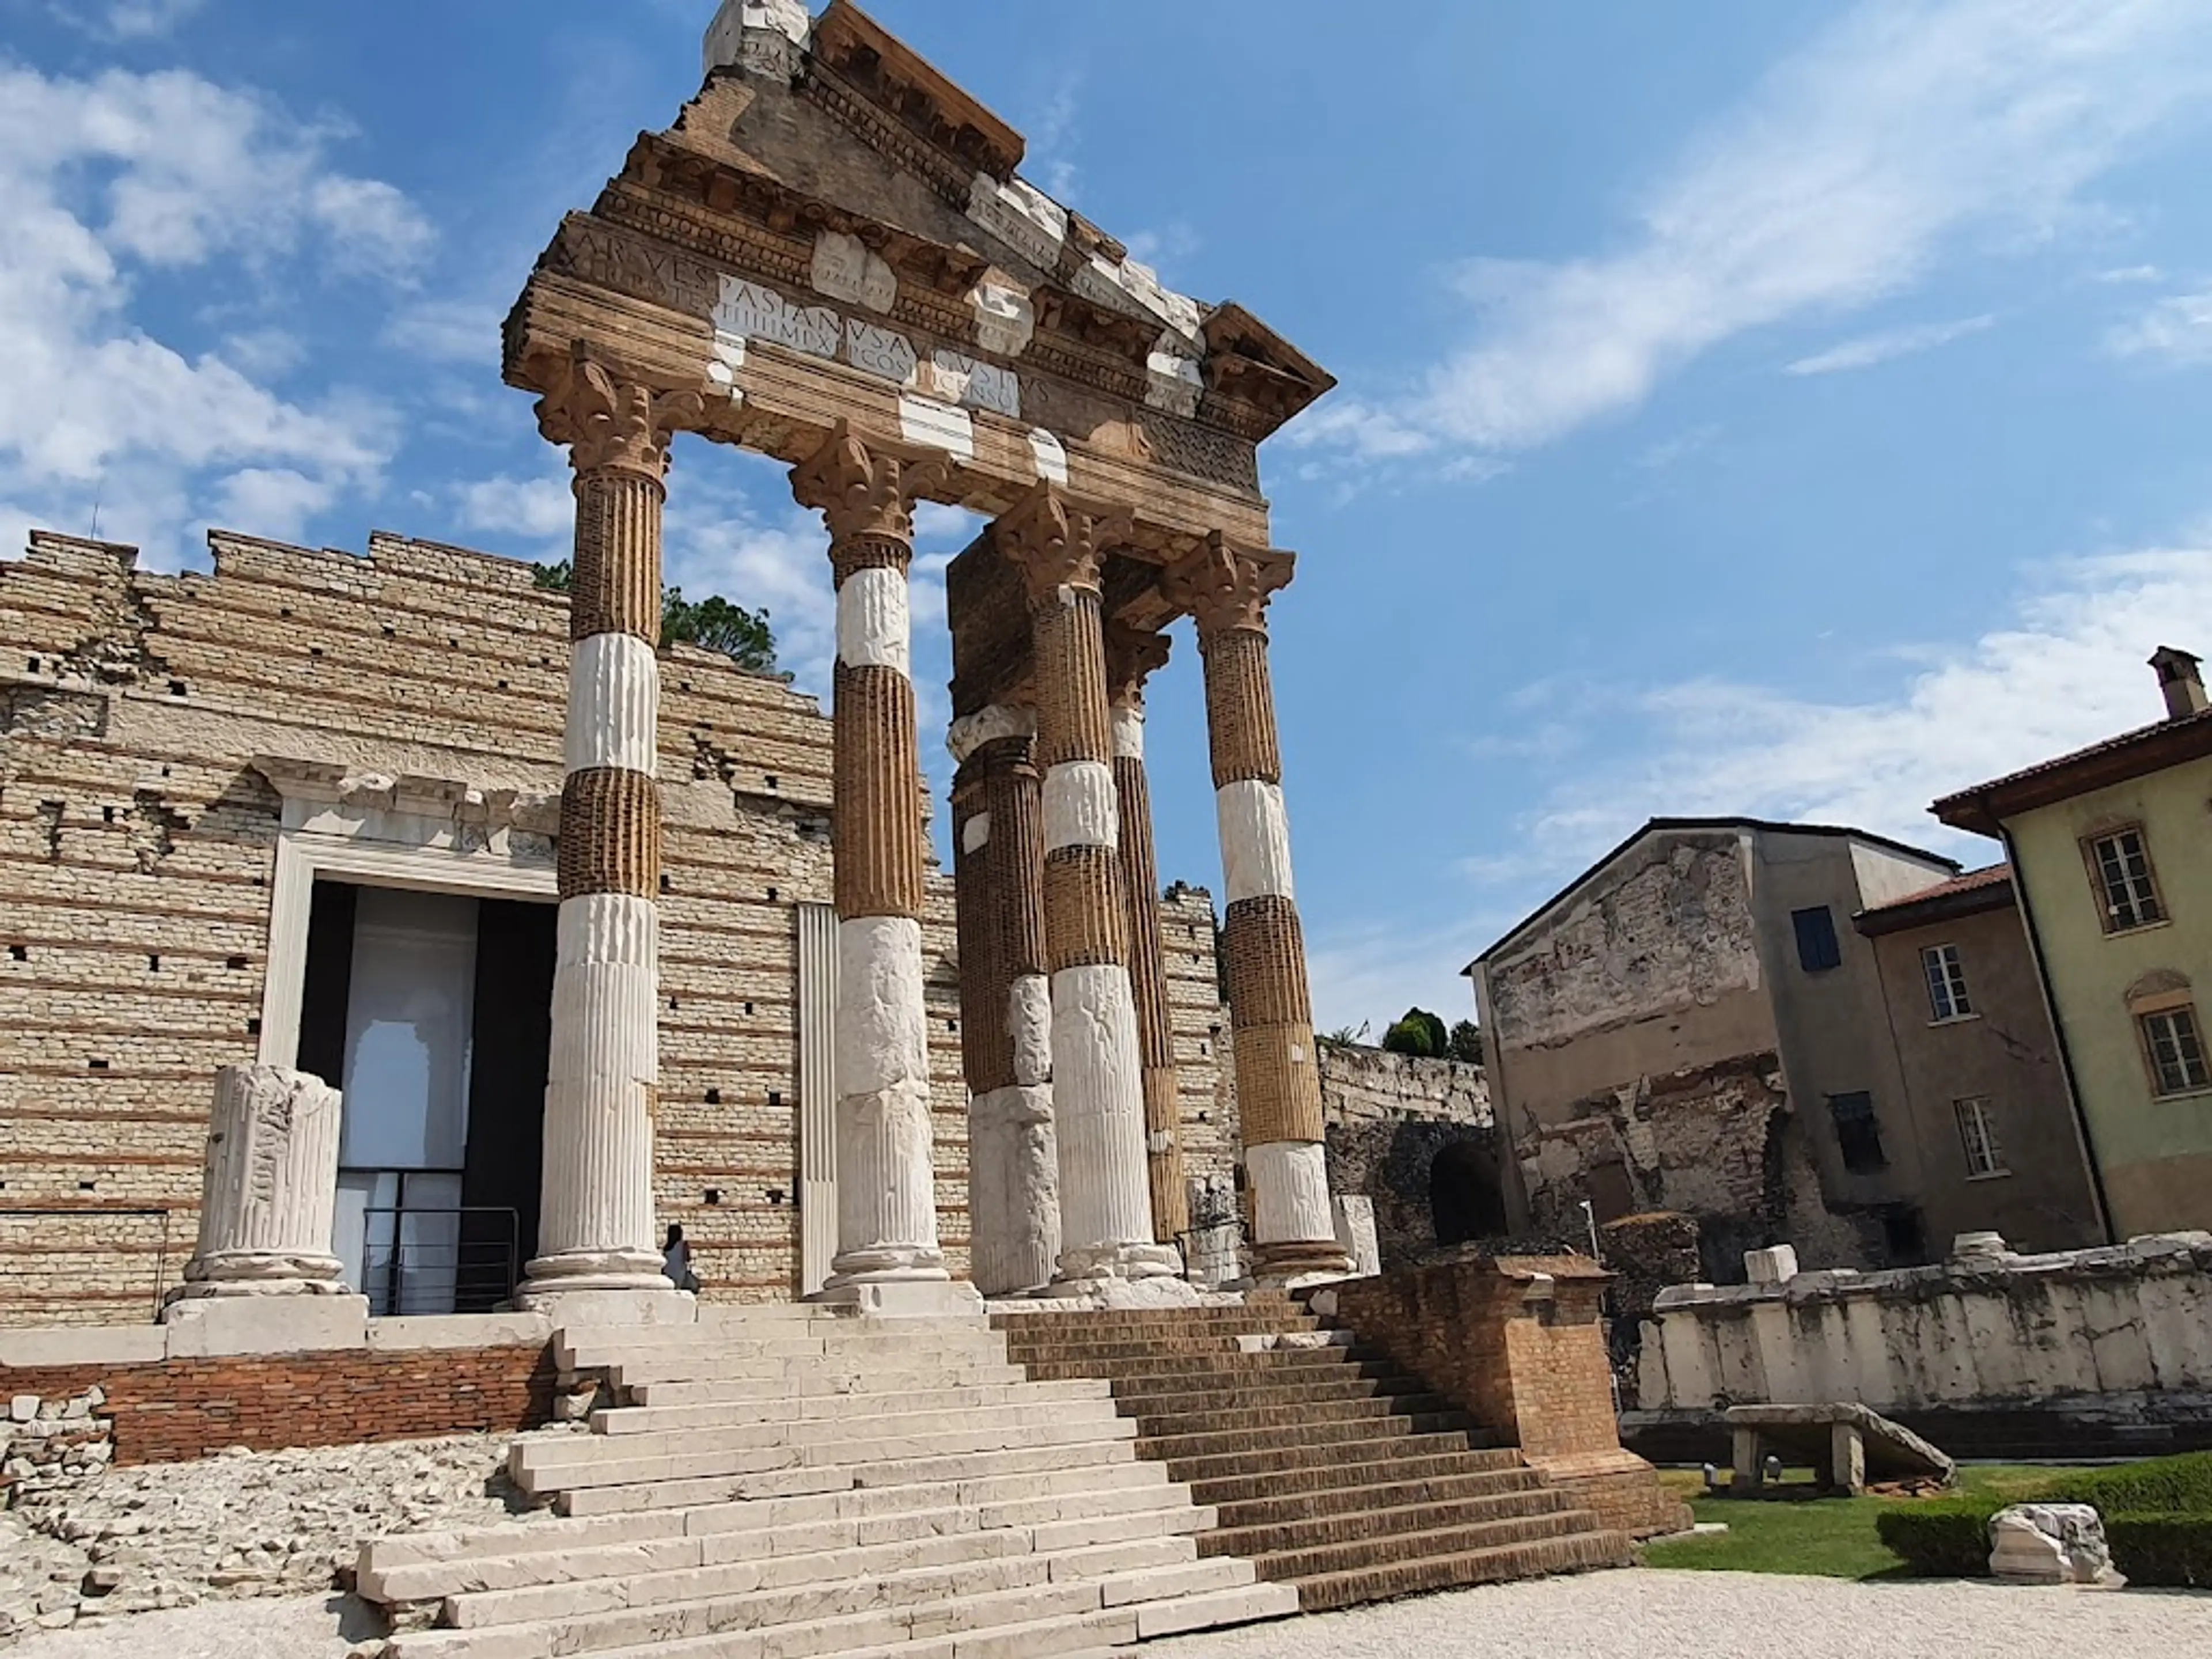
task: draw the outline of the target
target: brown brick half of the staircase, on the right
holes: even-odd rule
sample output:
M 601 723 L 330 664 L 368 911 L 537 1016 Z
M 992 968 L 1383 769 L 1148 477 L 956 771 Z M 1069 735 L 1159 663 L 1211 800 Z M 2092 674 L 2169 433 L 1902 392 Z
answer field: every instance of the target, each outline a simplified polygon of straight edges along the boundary
M 1290 1298 L 993 1323 L 1040 1387 L 1110 1385 L 1137 1455 L 1217 1517 L 1199 1555 L 1250 1562 L 1307 1613 L 1630 1562 L 1513 1449 Z

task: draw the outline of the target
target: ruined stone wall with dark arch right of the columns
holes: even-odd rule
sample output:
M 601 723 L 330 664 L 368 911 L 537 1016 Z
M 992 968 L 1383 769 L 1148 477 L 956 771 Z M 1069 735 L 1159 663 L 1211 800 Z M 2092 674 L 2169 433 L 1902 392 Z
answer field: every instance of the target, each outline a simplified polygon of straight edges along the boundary
M 1482 1066 L 1343 1042 L 1318 1053 L 1329 1192 L 1374 1201 L 1385 1267 L 1506 1230 Z

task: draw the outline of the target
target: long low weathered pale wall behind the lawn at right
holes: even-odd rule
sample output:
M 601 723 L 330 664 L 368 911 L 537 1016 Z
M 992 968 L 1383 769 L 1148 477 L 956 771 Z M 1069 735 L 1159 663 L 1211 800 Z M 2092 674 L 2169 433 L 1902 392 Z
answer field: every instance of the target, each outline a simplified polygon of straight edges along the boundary
M 1677 1285 L 1639 1332 L 1637 1405 L 1878 1411 L 2212 1389 L 2212 1234 L 1973 1254 L 1778 1285 Z

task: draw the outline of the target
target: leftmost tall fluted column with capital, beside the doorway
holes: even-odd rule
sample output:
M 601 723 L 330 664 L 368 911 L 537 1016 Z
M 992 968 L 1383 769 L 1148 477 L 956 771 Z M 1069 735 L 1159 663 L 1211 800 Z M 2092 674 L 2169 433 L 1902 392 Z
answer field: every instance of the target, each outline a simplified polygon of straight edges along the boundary
M 560 940 L 546 1071 L 538 1256 L 520 1303 L 599 1296 L 595 1318 L 648 1316 L 675 1296 L 653 1237 L 659 1084 L 661 484 L 668 438 L 697 394 L 637 385 L 577 347 L 538 403 L 575 467 L 568 591 L 566 776 L 560 794 Z

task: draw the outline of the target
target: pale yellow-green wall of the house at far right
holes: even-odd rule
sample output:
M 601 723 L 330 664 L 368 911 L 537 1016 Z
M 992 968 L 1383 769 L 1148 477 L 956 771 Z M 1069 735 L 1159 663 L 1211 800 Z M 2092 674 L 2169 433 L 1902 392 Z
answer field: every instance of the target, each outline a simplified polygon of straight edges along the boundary
M 2006 821 L 2119 1237 L 2212 1228 L 2212 1091 L 2157 1097 L 2137 1011 L 2185 982 L 2212 1033 L 2212 759 Z M 2104 931 L 2084 843 L 2141 825 L 2166 920 Z

